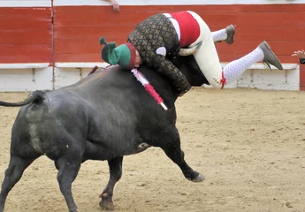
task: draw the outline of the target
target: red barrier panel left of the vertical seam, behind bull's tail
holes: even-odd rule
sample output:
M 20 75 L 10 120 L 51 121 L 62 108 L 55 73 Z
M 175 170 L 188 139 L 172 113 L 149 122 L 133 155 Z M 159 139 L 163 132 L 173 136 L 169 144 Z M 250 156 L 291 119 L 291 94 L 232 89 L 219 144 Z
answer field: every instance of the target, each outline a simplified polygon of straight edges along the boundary
M 0 63 L 51 63 L 51 7 L 0 7 Z

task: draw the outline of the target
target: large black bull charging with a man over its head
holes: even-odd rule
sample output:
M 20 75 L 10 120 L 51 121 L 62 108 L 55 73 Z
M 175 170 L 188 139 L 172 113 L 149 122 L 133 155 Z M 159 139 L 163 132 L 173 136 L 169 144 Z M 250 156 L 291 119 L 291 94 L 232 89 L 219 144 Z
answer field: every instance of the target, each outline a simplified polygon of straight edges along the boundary
M 192 86 L 206 82 L 194 57 L 176 58 L 175 64 Z M 86 160 L 107 160 L 109 164 L 110 179 L 101 194 L 101 208 L 114 208 L 113 188 L 122 175 L 123 156 L 149 147 L 162 148 L 185 178 L 193 182 L 204 179 L 187 165 L 180 148 L 175 126 L 177 91 L 148 67 L 143 65 L 139 71 L 169 110 L 157 105 L 133 74 L 118 66 L 90 74 L 72 86 L 36 91 L 24 102 L 0 102 L 2 106 L 22 106 L 12 126 L 11 160 L 5 170 L 0 211 L 4 211 L 6 197 L 23 171 L 41 155 L 55 162 L 69 211 L 77 211 L 72 182 Z

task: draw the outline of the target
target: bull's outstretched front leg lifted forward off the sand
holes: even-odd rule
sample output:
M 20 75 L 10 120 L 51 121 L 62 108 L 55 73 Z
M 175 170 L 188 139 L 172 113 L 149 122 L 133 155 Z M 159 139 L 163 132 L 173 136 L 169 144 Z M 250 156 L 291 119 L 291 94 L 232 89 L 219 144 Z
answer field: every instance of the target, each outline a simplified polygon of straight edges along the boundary
M 182 170 L 183 175 L 193 182 L 202 182 L 204 176 L 197 171 L 194 171 L 184 160 L 184 153 L 180 148 L 180 138 L 176 127 L 171 127 L 164 130 L 164 135 L 160 136 L 163 140 L 159 141 L 159 146 L 165 154 L 176 163 Z

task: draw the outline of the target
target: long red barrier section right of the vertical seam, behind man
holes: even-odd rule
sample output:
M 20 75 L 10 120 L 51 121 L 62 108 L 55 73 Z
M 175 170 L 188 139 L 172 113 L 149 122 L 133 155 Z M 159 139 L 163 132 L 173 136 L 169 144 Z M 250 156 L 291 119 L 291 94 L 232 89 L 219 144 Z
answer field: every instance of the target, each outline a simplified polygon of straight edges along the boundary
M 57 62 L 100 61 L 98 39 L 126 42 L 138 22 L 166 11 L 190 10 L 202 16 L 211 30 L 236 26 L 233 46 L 217 43 L 222 62 L 247 54 L 266 40 L 283 63 L 295 63 L 291 54 L 305 46 L 305 4 L 121 6 L 57 6 L 54 8 L 54 41 Z

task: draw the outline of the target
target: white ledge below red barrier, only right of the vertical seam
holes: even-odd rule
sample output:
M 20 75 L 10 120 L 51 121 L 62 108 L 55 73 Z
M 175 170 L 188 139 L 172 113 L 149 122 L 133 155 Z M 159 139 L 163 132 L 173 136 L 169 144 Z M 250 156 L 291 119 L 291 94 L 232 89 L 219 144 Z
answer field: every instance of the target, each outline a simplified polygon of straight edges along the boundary
M 88 72 L 97 65 L 105 67 L 108 64 L 59 64 L 55 68 L 55 88 L 71 85 L 74 82 L 86 77 Z M 225 66 L 225 63 L 222 64 Z M 283 64 L 284 70 L 279 71 L 272 68 L 271 71 L 266 71 L 263 64 L 254 64 L 249 69 L 240 75 L 240 78 L 235 80 L 225 88 L 234 87 L 249 87 L 267 90 L 300 90 L 300 66 L 298 64 Z

